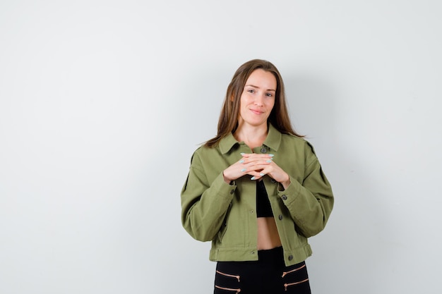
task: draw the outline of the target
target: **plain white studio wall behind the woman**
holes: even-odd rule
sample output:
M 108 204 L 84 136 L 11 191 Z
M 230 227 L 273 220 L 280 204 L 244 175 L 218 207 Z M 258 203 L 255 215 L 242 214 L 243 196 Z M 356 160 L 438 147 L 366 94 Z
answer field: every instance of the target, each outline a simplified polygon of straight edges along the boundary
M 313 293 L 441 293 L 440 1 L 0 2 L 0 293 L 211 293 L 191 154 L 250 59 L 335 193 Z

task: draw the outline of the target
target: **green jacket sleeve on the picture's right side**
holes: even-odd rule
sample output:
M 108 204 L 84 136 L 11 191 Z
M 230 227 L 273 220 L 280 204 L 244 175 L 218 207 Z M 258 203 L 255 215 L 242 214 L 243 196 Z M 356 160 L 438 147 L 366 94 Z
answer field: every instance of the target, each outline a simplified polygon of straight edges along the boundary
M 290 185 L 285 190 L 278 190 L 278 195 L 289 210 L 297 231 L 309 238 L 325 228 L 334 197 L 313 147 L 309 143 L 307 145 L 304 179 L 300 183 L 289 175 Z

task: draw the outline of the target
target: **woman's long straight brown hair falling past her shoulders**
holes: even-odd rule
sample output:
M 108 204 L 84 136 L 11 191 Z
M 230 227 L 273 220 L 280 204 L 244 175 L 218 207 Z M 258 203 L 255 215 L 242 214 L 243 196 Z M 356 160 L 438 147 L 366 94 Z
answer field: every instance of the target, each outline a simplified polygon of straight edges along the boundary
M 282 82 L 280 72 L 273 63 L 269 61 L 253 59 L 239 66 L 236 73 L 234 73 L 232 82 L 230 82 L 229 87 L 227 87 L 224 103 L 222 104 L 220 120 L 218 121 L 218 133 L 216 137 L 205 142 L 205 146 L 215 147 L 223 137 L 237 130 L 239 102 L 241 100 L 241 94 L 244 91 L 244 85 L 246 85 L 246 81 L 251 73 L 258 68 L 273 73 L 276 78 L 275 105 L 270 112 L 268 122 L 272 123 L 281 133 L 303 137 L 297 134 L 292 128 L 292 123 L 290 122 L 287 111 L 287 103 L 285 102 L 284 82 Z

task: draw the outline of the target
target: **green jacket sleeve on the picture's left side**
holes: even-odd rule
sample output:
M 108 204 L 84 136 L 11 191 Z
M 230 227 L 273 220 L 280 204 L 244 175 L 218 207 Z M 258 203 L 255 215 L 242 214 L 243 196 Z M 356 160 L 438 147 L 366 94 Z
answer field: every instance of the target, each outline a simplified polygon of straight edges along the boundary
M 222 172 L 208 180 L 201 158 L 193 154 L 186 183 L 181 190 L 181 223 L 196 240 L 210 241 L 220 231 L 236 185 L 225 183 Z

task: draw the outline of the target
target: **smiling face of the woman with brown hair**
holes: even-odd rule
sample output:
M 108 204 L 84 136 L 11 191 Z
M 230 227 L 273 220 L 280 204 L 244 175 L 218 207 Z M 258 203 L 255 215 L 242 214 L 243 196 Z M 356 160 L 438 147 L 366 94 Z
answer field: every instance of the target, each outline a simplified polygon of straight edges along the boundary
M 239 104 L 238 123 L 267 125 L 267 118 L 275 105 L 276 78 L 273 73 L 258 68 L 246 81 Z

